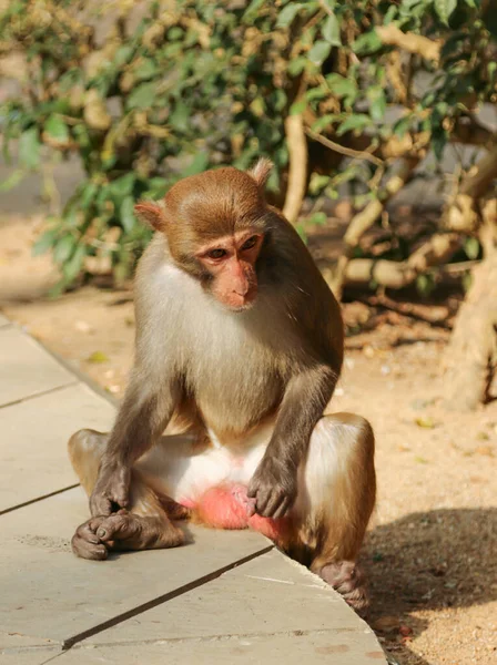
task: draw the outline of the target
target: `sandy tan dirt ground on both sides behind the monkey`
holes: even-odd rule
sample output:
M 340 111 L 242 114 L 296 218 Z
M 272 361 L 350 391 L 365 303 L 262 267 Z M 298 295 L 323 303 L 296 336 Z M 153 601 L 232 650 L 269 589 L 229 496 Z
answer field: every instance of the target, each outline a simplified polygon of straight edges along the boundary
M 41 218 L 0 221 L 0 309 L 116 398 L 132 362 L 130 291 L 45 296 L 57 275 L 30 243 Z M 363 553 L 369 623 L 400 665 L 497 663 L 497 402 L 447 411 L 448 331 L 345 306 L 334 410 L 366 416 L 377 439 L 378 502 Z M 363 331 L 361 331 L 361 329 Z

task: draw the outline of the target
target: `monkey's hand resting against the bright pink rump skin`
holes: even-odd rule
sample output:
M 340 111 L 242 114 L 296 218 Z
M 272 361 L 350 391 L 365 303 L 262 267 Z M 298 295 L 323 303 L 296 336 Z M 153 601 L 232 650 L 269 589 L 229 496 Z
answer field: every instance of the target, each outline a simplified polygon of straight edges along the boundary
M 255 499 L 255 512 L 263 518 L 283 518 L 297 495 L 296 471 L 265 458 L 248 484 L 247 497 Z

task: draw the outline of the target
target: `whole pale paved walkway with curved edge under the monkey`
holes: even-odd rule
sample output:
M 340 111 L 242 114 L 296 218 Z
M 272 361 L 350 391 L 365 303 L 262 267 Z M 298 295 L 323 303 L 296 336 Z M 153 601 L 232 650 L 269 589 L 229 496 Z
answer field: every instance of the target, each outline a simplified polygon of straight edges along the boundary
M 114 407 L 0 315 L 0 664 L 373 665 L 375 635 L 250 531 L 192 528 L 174 550 L 77 559 L 88 503 L 65 442 Z

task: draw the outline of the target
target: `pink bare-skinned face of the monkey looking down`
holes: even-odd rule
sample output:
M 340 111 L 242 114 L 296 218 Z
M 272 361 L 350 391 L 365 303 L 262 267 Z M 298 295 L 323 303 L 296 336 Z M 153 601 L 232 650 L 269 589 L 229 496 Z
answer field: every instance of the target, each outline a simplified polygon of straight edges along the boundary
M 255 262 L 263 237 L 261 233 L 243 231 L 217 238 L 196 253 L 197 260 L 213 276 L 212 295 L 230 309 L 247 309 L 255 300 Z

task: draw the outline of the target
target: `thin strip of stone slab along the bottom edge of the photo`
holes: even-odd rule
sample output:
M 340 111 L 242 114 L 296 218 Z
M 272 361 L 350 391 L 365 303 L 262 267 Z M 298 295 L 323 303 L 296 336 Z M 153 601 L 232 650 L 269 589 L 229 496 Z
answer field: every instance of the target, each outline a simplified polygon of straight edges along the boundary
M 302 608 L 304 611 L 304 608 Z M 307 608 L 305 608 L 306 611 Z M 331 631 L 72 648 L 55 665 L 386 665 L 379 646 L 339 641 Z M 10 664 L 9 664 L 10 665 Z M 13 664 L 12 664 L 13 665 Z

